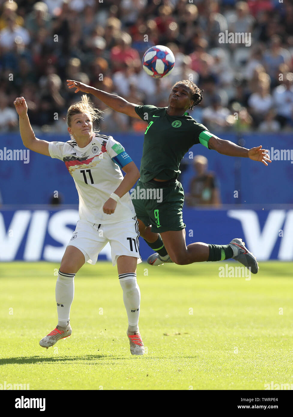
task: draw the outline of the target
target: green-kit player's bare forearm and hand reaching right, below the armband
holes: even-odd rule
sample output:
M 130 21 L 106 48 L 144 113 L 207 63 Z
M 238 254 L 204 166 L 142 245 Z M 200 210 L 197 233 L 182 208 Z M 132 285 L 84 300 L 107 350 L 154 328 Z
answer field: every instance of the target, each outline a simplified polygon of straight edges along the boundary
M 268 165 L 267 162 L 272 162 L 268 156 L 268 150 L 262 149 L 262 146 L 256 148 L 243 148 L 233 142 L 225 141 L 223 139 L 212 136 L 208 141 L 208 147 L 228 156 L 241 156 L 243 158 L 250 158 L 253 161 L 262 162 L 264 165 Z

